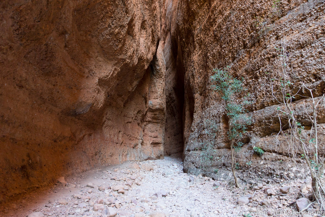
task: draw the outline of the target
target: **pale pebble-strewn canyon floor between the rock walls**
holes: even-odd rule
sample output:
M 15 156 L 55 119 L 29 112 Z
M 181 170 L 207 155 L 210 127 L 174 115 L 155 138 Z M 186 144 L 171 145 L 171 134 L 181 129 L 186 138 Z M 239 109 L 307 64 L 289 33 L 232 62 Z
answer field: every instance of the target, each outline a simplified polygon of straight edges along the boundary
M 250 210 L 251 216 L 296 216 L 288 207 L 295 193 L 284 194 L 272 186 L 267 190 L 263 184 L 244 192 L 225 182 L 183 173 L 181 160 L 170 157 L 102 167 L 66 181 L 68 186 L 59 183 L 48 194 L 36 192 L 6 205 L 0 216 L 232 217 L 250 216 Z

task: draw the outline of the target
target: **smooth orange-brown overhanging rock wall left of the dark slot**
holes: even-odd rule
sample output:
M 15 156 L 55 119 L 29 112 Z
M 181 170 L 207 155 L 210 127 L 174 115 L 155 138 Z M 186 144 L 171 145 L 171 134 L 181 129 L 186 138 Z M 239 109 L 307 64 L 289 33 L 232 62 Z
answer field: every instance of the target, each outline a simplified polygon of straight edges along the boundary
M 95 165 L 163 157 L 161 2 L 0 8 L 0 201 Z

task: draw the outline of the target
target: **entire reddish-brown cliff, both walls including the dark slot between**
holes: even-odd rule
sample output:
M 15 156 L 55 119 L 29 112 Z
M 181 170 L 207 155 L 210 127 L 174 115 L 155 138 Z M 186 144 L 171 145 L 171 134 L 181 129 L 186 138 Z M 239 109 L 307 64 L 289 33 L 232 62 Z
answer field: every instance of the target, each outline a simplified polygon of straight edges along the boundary
M 324 93 L 320 0 L 17 0 L 0 6 L 0 201 L 98 164 L 179 152 L 186 171 L 218 178 L 212 172 L 230 165 L 227 116 L 209 77 L 225 66 L 255 100 L 247 108 L 254 123 L 237 159 L 243 171 L 253 160 L 265 174 L 262 160 L 273 168 L 288 159 L 283 139 L 276 146 L 270 137 L 279 123 L 269 80 L 280 77 L 277 48 L 284 37 L 297 79 L 315 96 Z M 302 101 L 295 104 L 310 126 Z M 210 123 L 217 128 L 216 160 L 207 165 L 199 139 Z M 264 159 L 253 146 L 266 151 Z

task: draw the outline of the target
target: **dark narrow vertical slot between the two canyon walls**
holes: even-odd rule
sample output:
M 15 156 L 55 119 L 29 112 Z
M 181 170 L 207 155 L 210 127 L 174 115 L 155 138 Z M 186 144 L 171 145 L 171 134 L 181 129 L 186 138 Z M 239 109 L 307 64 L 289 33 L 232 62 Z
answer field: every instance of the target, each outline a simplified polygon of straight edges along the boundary
M 171 43 L 166 59 L 166 123 L 164 154 L 182 156 L 184 150 L 184 67 L 180 47 Z

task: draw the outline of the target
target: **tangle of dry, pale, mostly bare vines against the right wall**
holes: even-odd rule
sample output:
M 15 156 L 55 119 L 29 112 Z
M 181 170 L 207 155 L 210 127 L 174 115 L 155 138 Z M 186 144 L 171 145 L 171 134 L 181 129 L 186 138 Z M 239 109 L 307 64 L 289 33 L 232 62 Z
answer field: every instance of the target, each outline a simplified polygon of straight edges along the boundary
M 281 40 L 281 52 L 280 62 L 282 68 L 282 78 L 278 81 L 280 82 L 280 95 L 276 96 L 274 92 L 275 79 L 272 79 L 272 95 L 278 101 L 280 106 L 277 108 L 277 114 L 279 118 L 280 130 L 276 135 L 277 142 L 279 141 L 279 135 L 282 135 L 289 146 L 288 153 L 295 158 L 299 152 L 299 147 L 302 154 L 302 159 L 305 159 L 308 169 L 312 178 L 312 197 L 324 209 L 325 200 L 325 183 L 324 183 L 324 156 L 319 155 L 319 145 L 318 145 L 318 128 L 317 124 L 317 108 L 321 102 L 325 105 L 325 95 L 318 97 L 316 100 L 313 96 L 312 90 L 309 89 L 305 83 L 296 85 L 296 78 L 292 68 L 289 67 L 289 53 L 287 51 L 287 43 L 285 39 Z M 294 82 L 291 81 L 291 76 Z M 310 97 L 305 96 L 305 90 L 310 94 Z M 300 95 L 299 93 L 303 93 Z M 312 115 L 310 115 L 305 108 L 304 100 L 304 110 L 309 119 L 311 120 L 312 126 L 310 129 L 310 140 L 309 144 L 306 144 L 305 139 L 302 137 L 302 131 L 305 129 L 299 120 L 297 120 L 298 113 L 293 108 L 293 101 L 296 96 L 302 96 L 305 98 L 310 98 L 312 100 Z M 283 122 L 285 120 L 285 122 Z M 278 147 L 279 144 L 277 144 Z M 313 147 L 312 147 L 313 146 Z

